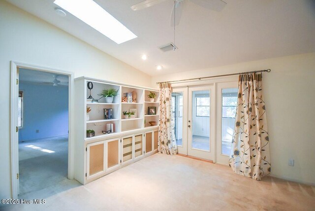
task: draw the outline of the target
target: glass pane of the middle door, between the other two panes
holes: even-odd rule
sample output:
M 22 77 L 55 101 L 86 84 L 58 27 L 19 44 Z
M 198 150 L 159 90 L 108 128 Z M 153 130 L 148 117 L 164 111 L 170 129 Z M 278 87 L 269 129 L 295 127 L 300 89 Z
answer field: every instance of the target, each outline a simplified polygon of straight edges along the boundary
M 210 91 L 192 91 L 191 147 L 210 151 Z

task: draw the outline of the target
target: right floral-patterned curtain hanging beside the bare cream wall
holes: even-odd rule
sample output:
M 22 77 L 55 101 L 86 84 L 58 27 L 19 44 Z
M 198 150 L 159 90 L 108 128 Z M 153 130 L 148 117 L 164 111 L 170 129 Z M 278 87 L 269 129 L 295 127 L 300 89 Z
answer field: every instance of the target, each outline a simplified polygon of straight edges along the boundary
M 229 165 L 234 173 L 260 180 L 271 172 L 262 74 L 239 76 L 235 127 Z

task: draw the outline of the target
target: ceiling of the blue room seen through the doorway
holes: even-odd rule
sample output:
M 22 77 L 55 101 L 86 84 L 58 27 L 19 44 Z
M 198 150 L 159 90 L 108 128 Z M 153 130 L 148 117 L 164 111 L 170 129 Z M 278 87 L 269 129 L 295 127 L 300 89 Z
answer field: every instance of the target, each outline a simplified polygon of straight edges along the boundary
M 53 75 L 57 76 L 57 80 L 60 81 L 58 86 L 68 86 L 69 77 L 67 75 L 22 68 L 19 69 L 19 80 L 29 83 L 52 86 L 52 83 L 55 80 Z

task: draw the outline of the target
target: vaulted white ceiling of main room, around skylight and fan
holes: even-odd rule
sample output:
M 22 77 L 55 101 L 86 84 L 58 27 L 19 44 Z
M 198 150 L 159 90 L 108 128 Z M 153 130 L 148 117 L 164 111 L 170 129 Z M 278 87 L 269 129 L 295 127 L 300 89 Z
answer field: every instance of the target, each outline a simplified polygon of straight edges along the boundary
M 221 12 L 185 0 L 175 52 L 157 48 L 173 42 L 172 0 L 139 11 L 130 6 L 141 0 L 95 0 L 138 36 L 119 45 L 69 13 L 58 16 L 54 0 L 7 1 L 150 75 L 315 52 L 314 0 L 224 0 Z

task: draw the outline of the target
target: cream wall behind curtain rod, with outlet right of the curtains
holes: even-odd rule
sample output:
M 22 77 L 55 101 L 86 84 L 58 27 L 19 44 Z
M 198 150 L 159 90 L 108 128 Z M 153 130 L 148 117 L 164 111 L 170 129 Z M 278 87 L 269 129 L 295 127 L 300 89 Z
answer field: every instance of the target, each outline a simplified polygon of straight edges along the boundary
M 315 53 L 165 74 L 156 81 L 271 69 L 263 74 L 272 176 L 315 184 Z M 288 159 L 295 160 L 294 167 Z

